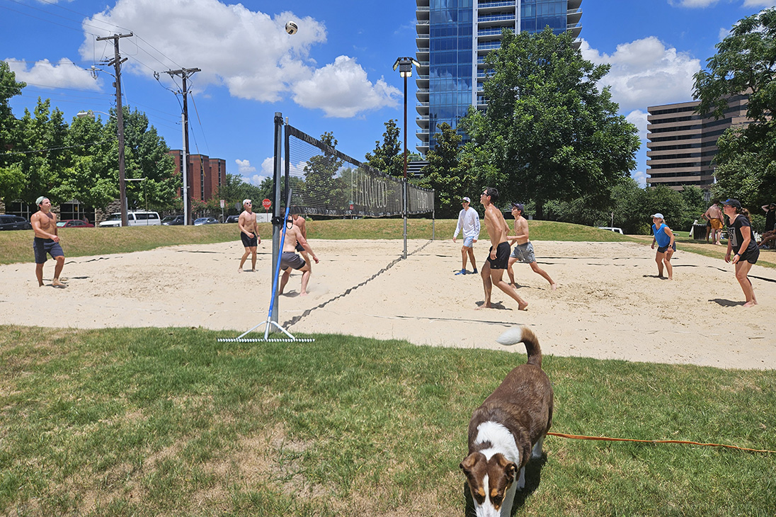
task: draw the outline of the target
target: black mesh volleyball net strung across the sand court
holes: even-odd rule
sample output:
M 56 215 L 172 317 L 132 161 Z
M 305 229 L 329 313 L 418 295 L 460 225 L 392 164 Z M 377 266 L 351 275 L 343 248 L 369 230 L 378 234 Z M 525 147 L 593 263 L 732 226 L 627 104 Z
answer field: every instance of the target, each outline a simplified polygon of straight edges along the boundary
M 324 141 L 284 127 L 285 181 L 299 213 L 333 217 L 390 217 L 404 213 L 404 182 L 338 151 Z M 434 211 L 434 191 L 407 182 L 407 214 Z

